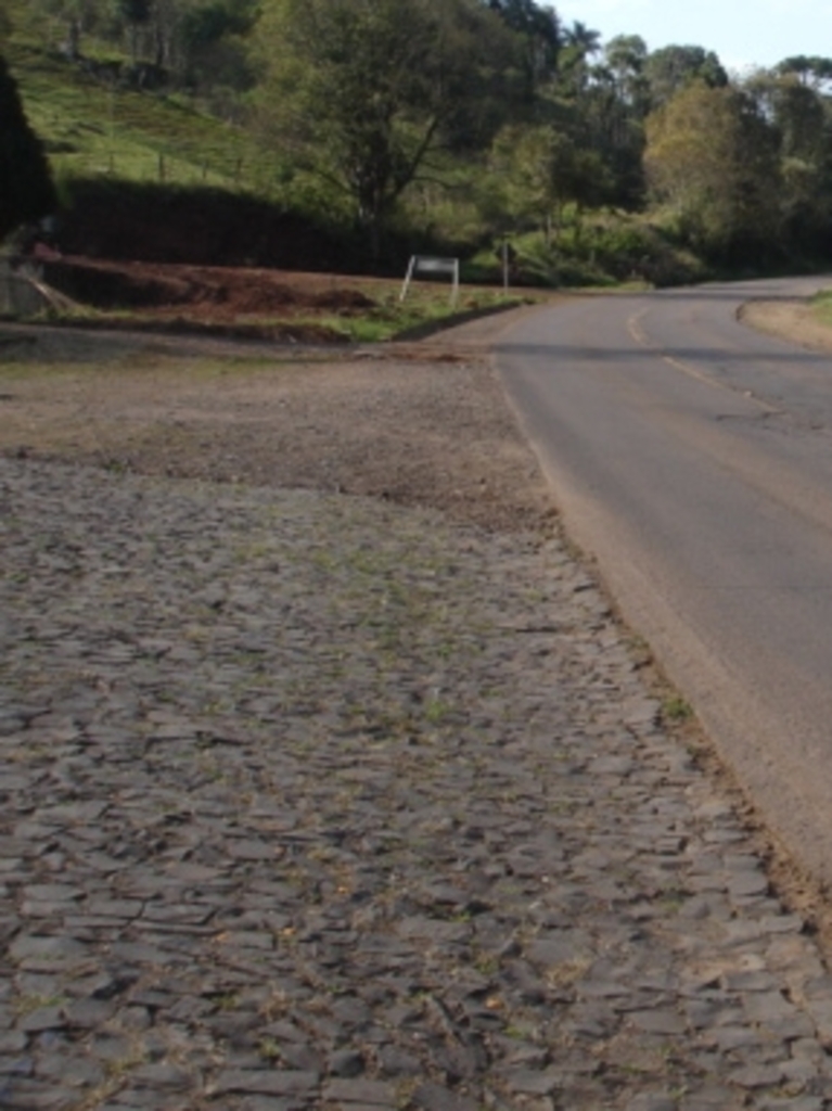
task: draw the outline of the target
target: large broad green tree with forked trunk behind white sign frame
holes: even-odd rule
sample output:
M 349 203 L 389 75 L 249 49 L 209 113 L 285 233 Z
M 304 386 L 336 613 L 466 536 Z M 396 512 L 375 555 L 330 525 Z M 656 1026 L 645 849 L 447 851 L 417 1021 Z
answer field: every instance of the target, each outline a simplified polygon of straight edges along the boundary
M 475 0 L 275 0 L 258 26 L 261 118 L 341 190 L 380 249 L 403 191 L 494 127 L 513 40 Z

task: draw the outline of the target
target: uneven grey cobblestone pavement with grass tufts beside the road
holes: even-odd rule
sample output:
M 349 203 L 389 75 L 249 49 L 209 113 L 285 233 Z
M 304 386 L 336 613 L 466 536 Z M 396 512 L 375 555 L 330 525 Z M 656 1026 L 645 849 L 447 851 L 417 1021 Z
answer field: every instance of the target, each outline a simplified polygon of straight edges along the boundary
M 0 460 L 4 1111 L 818 1111 L 832 980 L 557 540 Z

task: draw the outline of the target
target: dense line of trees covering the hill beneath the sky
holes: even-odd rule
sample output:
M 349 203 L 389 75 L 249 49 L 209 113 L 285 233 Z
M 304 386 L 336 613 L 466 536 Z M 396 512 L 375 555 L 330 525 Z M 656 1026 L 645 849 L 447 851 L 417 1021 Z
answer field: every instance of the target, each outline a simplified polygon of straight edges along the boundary
M 602 250 L 585 214 L 629 212 L 715 262 L 832 253 L 825 58 L 732 78 L 702 47 L 602 43 L 537 0 L 32 4 L 68 57 L 94 34 L 245 121 L 295 194 L 375 250 L 464 198 L 482 228 L 537 230 L 551 252 Z

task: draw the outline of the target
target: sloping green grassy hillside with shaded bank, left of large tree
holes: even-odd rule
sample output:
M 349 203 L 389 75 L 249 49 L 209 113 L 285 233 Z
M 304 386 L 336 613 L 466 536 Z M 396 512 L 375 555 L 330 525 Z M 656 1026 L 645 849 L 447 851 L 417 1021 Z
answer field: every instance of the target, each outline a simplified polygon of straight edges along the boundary
M 108 81 L 110 44 L 84 39 L 92 64 L 62 56 L 58 24 L 7 0 L 2 44 L 63 203 L 67 253 L 112 259 L 362 269 L 349 233 L 292 211 L 285 168 L 239 127 L 183 94 Z M 98 69 L 99 76 L 91 70 Z

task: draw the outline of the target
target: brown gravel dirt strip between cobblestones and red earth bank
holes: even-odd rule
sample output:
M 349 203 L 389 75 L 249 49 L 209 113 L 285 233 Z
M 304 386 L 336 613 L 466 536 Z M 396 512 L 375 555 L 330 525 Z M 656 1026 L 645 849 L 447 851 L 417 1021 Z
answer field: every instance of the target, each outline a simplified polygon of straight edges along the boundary
M 550 494 L 485 358 L 501 327 L 302 352 L 7 329 L 0 452 L 369 494 L 492 530 L 538 528 Z

